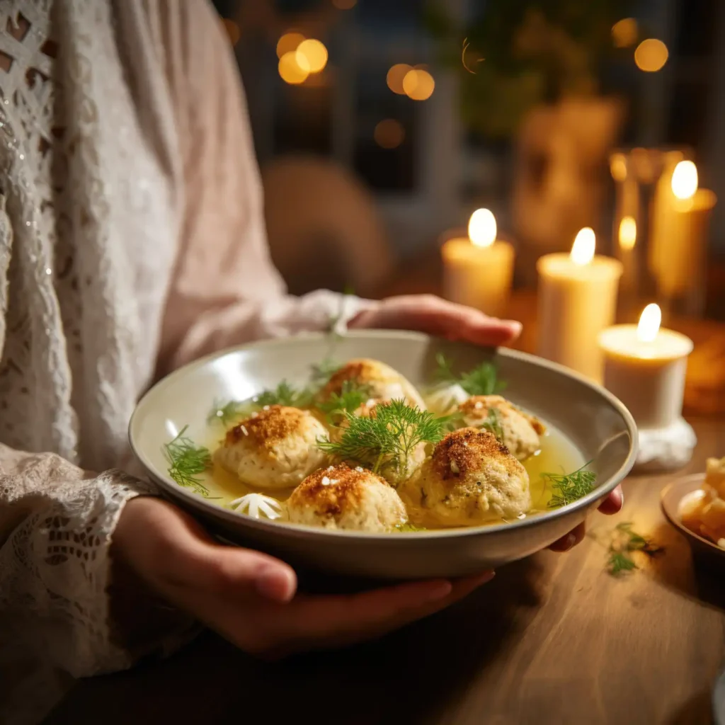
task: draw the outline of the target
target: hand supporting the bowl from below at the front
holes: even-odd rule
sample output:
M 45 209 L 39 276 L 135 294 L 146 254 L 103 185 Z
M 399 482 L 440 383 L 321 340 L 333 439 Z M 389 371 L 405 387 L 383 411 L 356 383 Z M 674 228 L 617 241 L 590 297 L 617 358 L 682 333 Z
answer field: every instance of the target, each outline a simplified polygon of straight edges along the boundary
M 356 595 L 296 592 L 285 563 L 215 542 L 169 503 L 126 504 L 113 555 L 155 595 L 190 613 L 247 653 L 278 657 L 297 650 L 378 637 L 428 616 L 490 581 L 493 572 L 451 583 L 419 581 Z

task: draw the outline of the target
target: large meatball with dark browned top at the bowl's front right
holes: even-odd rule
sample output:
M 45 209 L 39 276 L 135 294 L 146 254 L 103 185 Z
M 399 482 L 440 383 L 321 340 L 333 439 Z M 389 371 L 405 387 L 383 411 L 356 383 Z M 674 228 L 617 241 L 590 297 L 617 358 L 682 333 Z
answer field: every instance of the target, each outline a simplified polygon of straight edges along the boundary
M 531 508 L 529 474 L 488 431 L 461 428 L 399 488 L 418 526 L 478 526 L 520 518 Z

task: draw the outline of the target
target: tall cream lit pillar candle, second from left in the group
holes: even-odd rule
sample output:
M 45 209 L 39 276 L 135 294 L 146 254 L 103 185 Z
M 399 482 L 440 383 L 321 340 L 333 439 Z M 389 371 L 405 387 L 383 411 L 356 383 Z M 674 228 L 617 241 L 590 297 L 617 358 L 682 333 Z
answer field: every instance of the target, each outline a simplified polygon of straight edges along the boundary
M 595 256 L 595 246 L 595 233 L 587 227 L 576 235 L 571 254 L 546 254 L 537 262 L 538 352 L 600 381 L 597 337 L 614 321 L 622 265 Z

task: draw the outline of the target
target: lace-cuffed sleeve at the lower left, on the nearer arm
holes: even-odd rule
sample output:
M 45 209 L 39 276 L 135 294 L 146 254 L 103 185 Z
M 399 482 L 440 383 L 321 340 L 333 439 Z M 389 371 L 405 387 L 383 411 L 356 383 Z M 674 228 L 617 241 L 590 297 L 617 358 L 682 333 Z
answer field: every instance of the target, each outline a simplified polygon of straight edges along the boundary
M 123 471 L 0 446 L 1 645 L 75 677 L 130 666 L 109 619 L 109 544 L 125 503 L 151 492 Z

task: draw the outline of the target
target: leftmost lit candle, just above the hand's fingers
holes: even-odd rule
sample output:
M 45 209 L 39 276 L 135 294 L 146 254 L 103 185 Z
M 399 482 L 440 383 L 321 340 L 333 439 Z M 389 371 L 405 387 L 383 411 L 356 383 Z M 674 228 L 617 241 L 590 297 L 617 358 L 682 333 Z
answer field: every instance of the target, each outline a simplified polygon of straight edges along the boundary
M 468 222 L 468 237 L 448 239 L 442 247 L 444 296 L 502 317 L 513 278 L 513 246 L 497 239 L 496 219 L 478 209 Z

